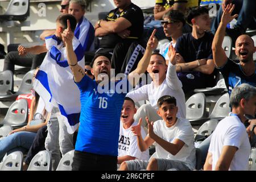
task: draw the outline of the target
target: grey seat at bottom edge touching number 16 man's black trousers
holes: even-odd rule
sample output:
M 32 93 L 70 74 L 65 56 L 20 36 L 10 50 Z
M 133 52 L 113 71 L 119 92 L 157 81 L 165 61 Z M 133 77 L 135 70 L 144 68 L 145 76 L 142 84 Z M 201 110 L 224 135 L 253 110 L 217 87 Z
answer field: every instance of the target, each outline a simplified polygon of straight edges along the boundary
M 60 160 L 56 171 L 72 171 L 72 162 L 75 150 L 67 152 Z

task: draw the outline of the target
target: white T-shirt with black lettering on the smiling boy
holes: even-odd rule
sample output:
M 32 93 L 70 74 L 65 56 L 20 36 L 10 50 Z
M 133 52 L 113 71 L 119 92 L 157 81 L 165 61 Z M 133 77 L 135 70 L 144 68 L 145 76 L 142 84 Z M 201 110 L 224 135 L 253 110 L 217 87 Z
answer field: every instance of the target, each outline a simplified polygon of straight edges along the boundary
M 131 127 L 135 125 L 138 125 L 138 123 L 134 122 L 133 125 L 129 127 L 129 129 L 125 129 L 122 122 L 120 122 L 118 157 L 130 155 L 135 157 L 136 159 L 148 160 L 149 151 L 146 150 L 142 152 L 141 150 L 139 150 L 137 137 L 133 134 L 133 132 L 131 132 Z M 143 129 L 141 130 L 141 135 L 143 139 L 146 137 L 146 133 Z

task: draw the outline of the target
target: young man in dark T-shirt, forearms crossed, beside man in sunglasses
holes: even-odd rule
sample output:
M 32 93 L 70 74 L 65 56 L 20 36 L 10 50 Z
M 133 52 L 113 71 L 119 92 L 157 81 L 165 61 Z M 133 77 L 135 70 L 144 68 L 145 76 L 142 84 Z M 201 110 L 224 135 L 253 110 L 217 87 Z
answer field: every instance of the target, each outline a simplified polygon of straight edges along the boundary
M 212 56 L 213 35 L 210 34 L 210 18 L 205 7 L 191 9 L 187 22 L 192 24 L 192 33 L 177 39 L 176 52 L 180 54 L 176 71 L 185 94 L 196 88 L 216 85 L 216 71 Z

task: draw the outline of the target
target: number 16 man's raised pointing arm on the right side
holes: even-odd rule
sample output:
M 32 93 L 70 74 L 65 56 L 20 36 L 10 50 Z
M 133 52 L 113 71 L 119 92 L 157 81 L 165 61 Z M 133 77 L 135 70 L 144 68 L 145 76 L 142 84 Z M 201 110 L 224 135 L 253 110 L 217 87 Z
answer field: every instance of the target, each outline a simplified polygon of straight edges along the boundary
M 158 46 L 158 40 L 154 37 L 155 32 L 156 29 L 152 32 L 150 39 L 148 39 L 146 51 L 142 59 L 139 61 L 137 68 L 128 75 L 128 80 L 130 83 L 133 84 L 133 86 L 135 86 L 139 81 L 138 75 L 146 72 L 148 64 L 150 62 L 152 51 Z M 136 79 L 134 80 L 134 78 Z

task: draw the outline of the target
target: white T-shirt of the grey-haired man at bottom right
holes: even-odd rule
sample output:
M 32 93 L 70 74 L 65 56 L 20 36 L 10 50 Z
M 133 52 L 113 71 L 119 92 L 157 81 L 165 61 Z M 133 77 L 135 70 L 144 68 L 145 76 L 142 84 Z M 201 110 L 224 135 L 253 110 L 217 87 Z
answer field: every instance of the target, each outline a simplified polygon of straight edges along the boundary
M 209 146 L 209 152 L 212 153 L 213 170 L 218 158 L 220 158 L 223 146 L 236 146 L 238 148 L 230 164 L 230 171 L 248 170 L 251 146 L 245 125 L 237 116 L 222 119 L 213 131 Z

